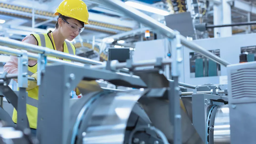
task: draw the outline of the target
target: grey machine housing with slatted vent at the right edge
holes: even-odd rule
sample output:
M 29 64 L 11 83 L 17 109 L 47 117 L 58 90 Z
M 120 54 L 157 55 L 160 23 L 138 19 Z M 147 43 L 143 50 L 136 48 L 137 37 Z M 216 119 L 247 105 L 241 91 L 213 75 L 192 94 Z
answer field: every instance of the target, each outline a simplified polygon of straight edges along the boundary
M 256 62 L 227 67 L 232 144 L 255 143 Z

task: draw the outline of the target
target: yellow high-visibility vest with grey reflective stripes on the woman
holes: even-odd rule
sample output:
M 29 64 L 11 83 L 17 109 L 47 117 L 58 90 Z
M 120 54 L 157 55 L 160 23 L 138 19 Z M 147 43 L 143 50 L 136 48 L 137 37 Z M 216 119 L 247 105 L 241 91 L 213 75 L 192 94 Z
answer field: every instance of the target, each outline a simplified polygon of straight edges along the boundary
M 34 38 L 37 40 L 37 45 L 42 46 L 42 47 L 47 47 L 52 50 L 55 50 L 53 46 L 53 42 L 50 39 L 50 36 L 48 35 L 50 32 L 45 33 L 45 34 L 31 34 L 34 36 Z M 70 43 L 70 42 L 64 42 L 63 45 L 63 52 L 75 55 L 75 46 Z M 52 56 L 50 56 L 52 57 Z M 53 57 L 58 59 L 57 57 Z M 65 60 L 65 59 L 63 59 Z M 65 60 L 65 61 L 70 61 L 70 60 Z M 33 75 L 34 73 L 37 72 L 37 64 L 33 66 L 28 66 L 28 74 L 29 76 Z M 28 97 L 27 97 L 27 118 L 29 120 L 29 126 L 30 128 L 37 129 L 37 113 L 38 113 L 38 90 L 39 87 L 35 87 L 31 90 L 28 90 Z M 17 111 L 14 108 L 13 110 L 13 122 L 17 123 Z

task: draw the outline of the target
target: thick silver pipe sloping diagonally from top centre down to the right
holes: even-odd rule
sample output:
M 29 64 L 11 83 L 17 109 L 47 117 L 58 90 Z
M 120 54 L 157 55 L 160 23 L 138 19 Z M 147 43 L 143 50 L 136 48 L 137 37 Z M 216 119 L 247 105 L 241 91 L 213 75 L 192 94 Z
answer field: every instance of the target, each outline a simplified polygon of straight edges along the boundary
M 92 1 L 98 1 L 99 0 L 92 0 Z M 141 22 L 149 27 L 151 27 L 154 30 L 159 31 L 161 34 L 169 37 L 170 39 L 173 39 L 176 35 L 175 31 L 172 30 L 171 28 L 165 26 L 164 24 L 158 22 L 157 20 L 151 18 L 150 16 L 142 13 L 141 11 L 138 11 L 136 9 L 134 9 L 133 7 L 129 7 L 127 6 L 125 3 L 123 3 L 122 1 L 119 0 L 104 0 L 104 1 L 100 1 L 101 3 L 105 4 L 106 6 L 109 6 L 113 9 L 119 10 L 122 13 L 124 13 L 125 15 L 127 15 L 128 17 L 131 17 L 135 20 L 137 20 L 138 22 Z M 230 63 L 228 63 L 227 61 L 221 59 L 220 57 L 214 55 L 213 53 L 205 50 L 204 48 L 202 48 L 201 46 L 197 45 L 196 43 L 192 42 L 192 41 L 188 41 L 187 38 L 185 38 L 184 36 L 181 36 L 181 44 L 183 44 L 184 46 L 190 48 L 193 51 L 198 52 L 199 54 L 215 61 L 218 64 L 221 64 L 223 66 L 227 66 Z

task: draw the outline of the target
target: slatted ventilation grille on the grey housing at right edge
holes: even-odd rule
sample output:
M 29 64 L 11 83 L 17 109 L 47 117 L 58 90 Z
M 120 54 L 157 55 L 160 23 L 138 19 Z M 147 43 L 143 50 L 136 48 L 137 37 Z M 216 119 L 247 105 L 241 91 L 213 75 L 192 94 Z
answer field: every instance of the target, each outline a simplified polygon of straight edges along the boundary
M 232 99 L 256 98 L 256 68 L 238 69 L 231 74 Z

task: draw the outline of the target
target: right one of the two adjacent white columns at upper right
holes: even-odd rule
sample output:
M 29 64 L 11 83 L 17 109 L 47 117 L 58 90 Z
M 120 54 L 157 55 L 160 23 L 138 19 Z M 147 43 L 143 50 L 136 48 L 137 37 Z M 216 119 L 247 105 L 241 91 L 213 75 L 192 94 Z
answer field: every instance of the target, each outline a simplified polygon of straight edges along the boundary
M 231 6 L 229 0 L 222 0 L 223 24 L 231 24 Z M 221 37 L 232 36 L 232 27 L 222 27 Z

